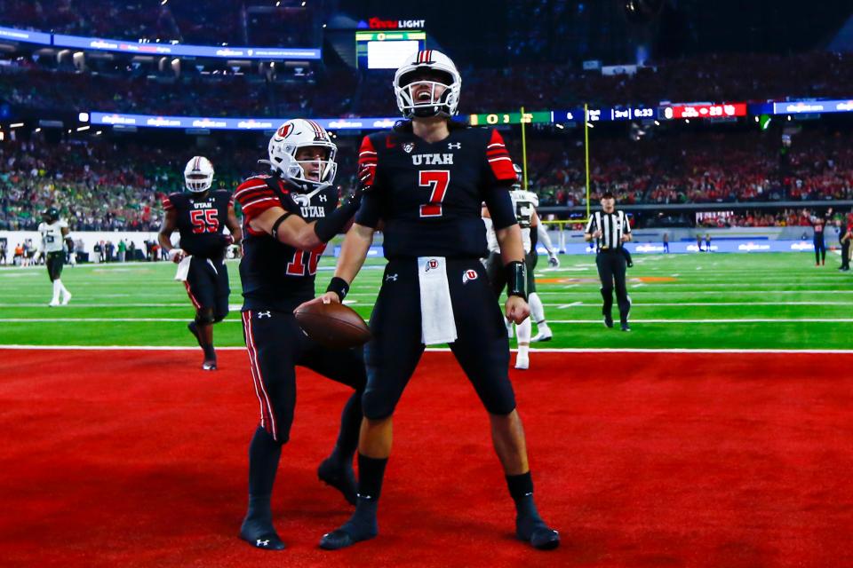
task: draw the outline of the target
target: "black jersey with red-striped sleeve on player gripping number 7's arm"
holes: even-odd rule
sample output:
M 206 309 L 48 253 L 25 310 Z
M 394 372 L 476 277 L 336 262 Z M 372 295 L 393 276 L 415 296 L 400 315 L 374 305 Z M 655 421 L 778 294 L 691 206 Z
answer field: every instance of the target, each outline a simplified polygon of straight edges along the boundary
M 291 312 L 314 294 L 317 263 L 326 245 L 301 250 L 276 241 L 249 226 L 253 217 L 271 207 L 281 207 L 307 222 L 326 217 L 338 206 L 338 190 L 329 186 L 317 193 L 300 193 L 283 179 L 250 177 L 234 193 L 243 209 L 243 310 Z

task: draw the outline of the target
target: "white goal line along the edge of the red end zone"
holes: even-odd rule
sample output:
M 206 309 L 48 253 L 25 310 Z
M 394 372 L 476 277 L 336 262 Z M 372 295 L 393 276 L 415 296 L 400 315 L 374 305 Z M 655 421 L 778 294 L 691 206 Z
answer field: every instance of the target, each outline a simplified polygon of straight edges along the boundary
M 0 345 L 0 350 L 16 351 L 198 351 L 198 347 L 175 347 L 170 345 Z M 217 347 L 217 351 L 244 351 L 245 347 Z M 596 349 L 580 348 L 531 348 L 538 353 L 807 353 L 807 354 L 853 354 L 846 349 L 616 349 L 602 347 Z M 430 347 L 426 351 L 450 352 L 448 348 Z M 510 350 L 510 351 L 515 351 Z

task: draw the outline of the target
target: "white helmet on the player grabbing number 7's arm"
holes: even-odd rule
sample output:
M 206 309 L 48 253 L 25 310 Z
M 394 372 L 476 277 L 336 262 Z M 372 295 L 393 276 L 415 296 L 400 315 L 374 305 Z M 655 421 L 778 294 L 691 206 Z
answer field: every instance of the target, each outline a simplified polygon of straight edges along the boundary
M 297 160 L 300 148 L 319 146 L 327 150 L 325 160 Z M 269 161 L 273 170 L 280 171 L 285 179 L 298 185 L 303 191 L 326 187 L 335 181 L 338 164 L 338 146 L 329 138 L 328 132 L 314 121 L 294 118 L 284 122 L 272 138 L 269 138 Z M 309 179 L 306 168 L 314 170 L 317 179 Z

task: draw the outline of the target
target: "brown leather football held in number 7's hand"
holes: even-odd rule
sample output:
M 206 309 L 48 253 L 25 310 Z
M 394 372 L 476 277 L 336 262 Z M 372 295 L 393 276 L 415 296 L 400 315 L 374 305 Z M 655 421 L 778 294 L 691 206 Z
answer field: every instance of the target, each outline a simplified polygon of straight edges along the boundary
M 308 337 L 331 349 L 357 347 L 372 336 L 362 316 L 343 304 L 308 304 L 295 315 Z

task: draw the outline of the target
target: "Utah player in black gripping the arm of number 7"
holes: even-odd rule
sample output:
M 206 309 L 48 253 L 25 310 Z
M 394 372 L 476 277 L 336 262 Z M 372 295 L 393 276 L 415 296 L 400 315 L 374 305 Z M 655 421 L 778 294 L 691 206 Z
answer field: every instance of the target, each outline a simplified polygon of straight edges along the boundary
M 346 384 L 355 393 L 340 418 L 338 441 L 317 475 L 355 504 L 353 456 L 366 383 L 362 349 L 331 350 L 302 333 L 293 310 L 313 298 L 317 263 L 326 243 L 343 232 L 358 194 L 338 207 L 332 185 L 338 148 L 319 124 L 284 122 L 269 141 L 271 171 L 235 192 L 243 208 L 243 335 L 260 404 L 249 446 L 249 510 L 240 536 L 257 548 L 284 544 L 272 523 L 270 494 L 296 406 L 296 366 Z

